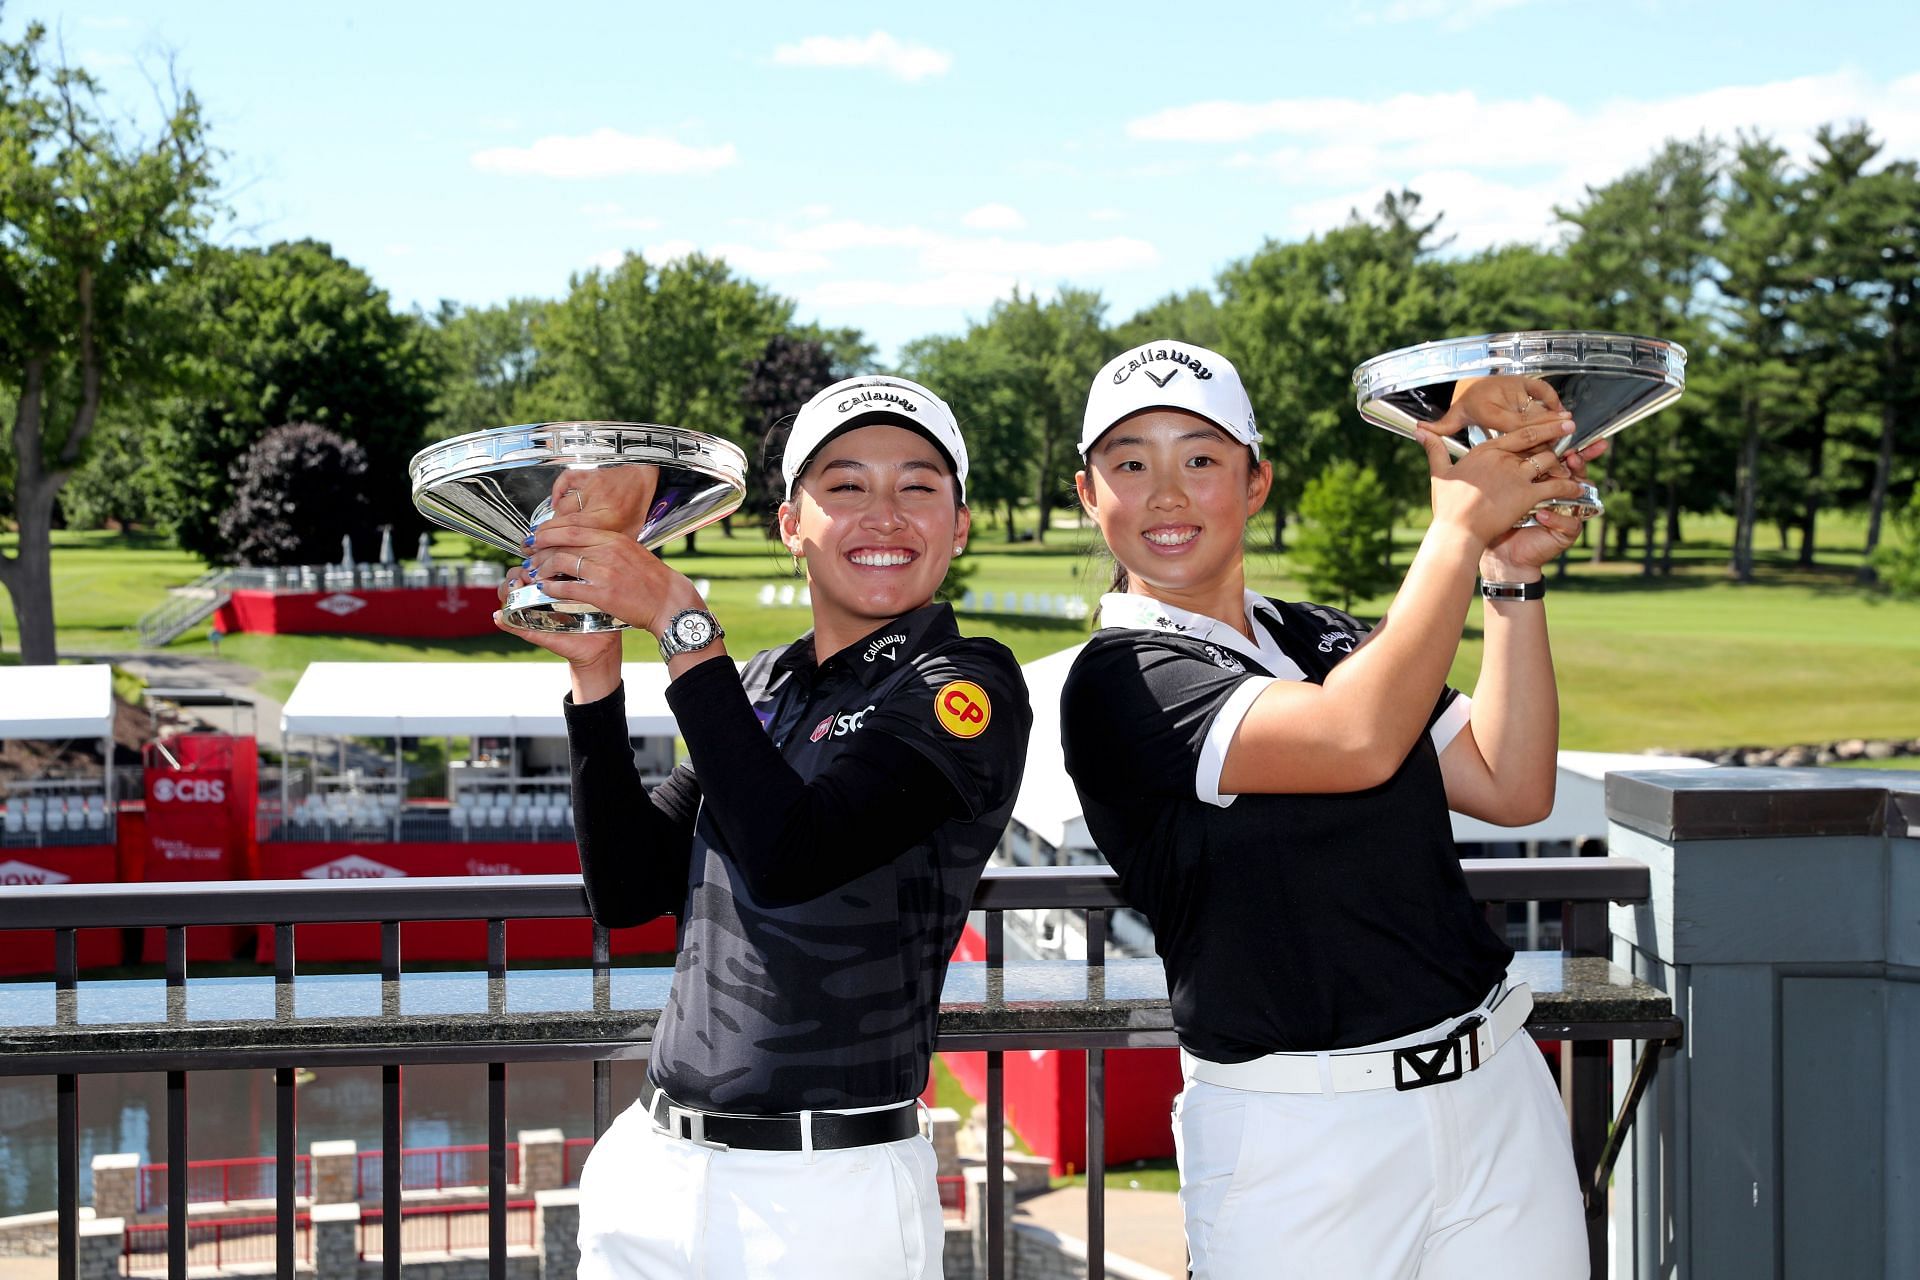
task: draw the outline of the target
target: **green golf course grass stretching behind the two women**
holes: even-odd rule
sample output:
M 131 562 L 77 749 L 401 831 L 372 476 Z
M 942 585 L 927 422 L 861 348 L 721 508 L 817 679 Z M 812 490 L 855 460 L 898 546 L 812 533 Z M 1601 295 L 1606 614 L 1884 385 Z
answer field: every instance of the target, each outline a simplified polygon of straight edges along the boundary
M 1672 578 L 1642 578 L 1638 560 L 1590 564 L 1576 553 L 1571 574 L 1553 580 L 1548 601 L 1561 674 L 1561 743 L 1588 750 L 1788 745 L 1843 737 L 1907 737 L 1920 723 L 1920 603 L 1887 601 L 1853 585 L 1862 535 L 1857 518 L 1822 524 L 1820 564 L 1801 570 L 1770 530 L 1759 547 L 1759 581 L 1726 578 L 1724 520 L 1690 518 Z M 1419 528 L 1396 533 L 1396 555 L 1411 555 Z M 192 581 L 202 564 L 146 535 L 61 532 L 54 535 L 54 606 L 63 654 L 123 652 L 132 624 L 165 601 L 167 587 Z M 1250 535 L 1248 583 L 1298 599 L 1302 585 L 1284 555 L 1267 549 L 1267 528 Z M 447 535 L 436 555 L 455 557 Z M 0 535 L 12 549 L 12 537 Z M 1044 545 L 1006 543 L 981 526 L 968 551 L 975 593 L 1081 595 L 1092 603 L 1108 562 L 1089 530 L 1058 522 Z M 674 549 L 672 564 L 707 578 L 730 649 L 751 654 L 808 626 L 797 606 L 762 608 L 764 583 L 791 583 L 778 547 L 749 528 L 735 537 L 707 530 L 699 555 Z M 1388 599 L 1356 601 L 1379 616 Z M 1478 610 L 1453 664 L 1453 681 L 1473 689 L 1480 658 Z M 1006 643 L 1021 662 L 1087 635 L 1087 624 L 1014 612 L 962 614 L 962 628 Z M 0 593 L 0 647 L 17 643 L 12 601 Z M 171 649 L 209 652 L 205 631 Z M 397 641 L 351 635 L 230 635 L 221 656 L 261 672 L 259 687 L 284 699 L 309 662 L 526 660 L 543 651 L 509 635 L 465 641 Z M 657 660 L 651 637 L 630 635 L 628 658 Z M 8 660 L 0 652 L 0 662 Z

